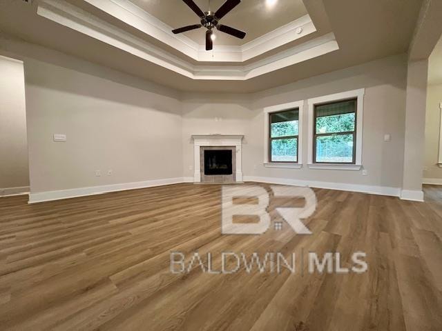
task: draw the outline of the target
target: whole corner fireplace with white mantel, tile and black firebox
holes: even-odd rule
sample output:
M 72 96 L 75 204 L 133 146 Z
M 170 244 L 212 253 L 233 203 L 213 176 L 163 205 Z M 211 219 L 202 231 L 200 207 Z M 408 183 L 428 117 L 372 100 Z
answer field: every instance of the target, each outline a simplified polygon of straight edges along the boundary
M 195 183 L 241 182 L 243 137 L 242 134 L 193 134 L 195 167 L 193 181 Z

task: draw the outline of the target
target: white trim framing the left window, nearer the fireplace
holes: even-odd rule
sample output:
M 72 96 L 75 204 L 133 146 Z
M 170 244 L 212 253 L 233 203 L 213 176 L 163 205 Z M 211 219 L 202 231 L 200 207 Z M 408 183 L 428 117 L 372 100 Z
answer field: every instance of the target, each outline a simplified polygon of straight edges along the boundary
M 298 108 L 298 161 L 270 161 L 270 114 Z M 304 100 L 264 108 L 264 166 L 267 168 L 302 168 L 302 117 Z M 296 136 L 294 136 L 296 137 Z

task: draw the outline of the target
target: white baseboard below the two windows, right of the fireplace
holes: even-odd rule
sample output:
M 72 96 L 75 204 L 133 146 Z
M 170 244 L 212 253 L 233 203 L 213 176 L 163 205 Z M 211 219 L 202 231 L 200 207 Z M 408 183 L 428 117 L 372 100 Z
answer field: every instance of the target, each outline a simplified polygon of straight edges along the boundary
M 282 184 L 282 185 L 308 186 L 310 188 L 327 188 L 329 190 L 362 192 L 368 194 L 388 195 L 392 197 L 400 197 L 401 195 L 400 188 L 391 188 L 388 186 L 332 183 L 327 181 L 302 181 L 298 179 L 254 177 L 254 176 L 245 176 L 244 181 L 256 181 L 258 183 L 271 183 L 271 184 Z

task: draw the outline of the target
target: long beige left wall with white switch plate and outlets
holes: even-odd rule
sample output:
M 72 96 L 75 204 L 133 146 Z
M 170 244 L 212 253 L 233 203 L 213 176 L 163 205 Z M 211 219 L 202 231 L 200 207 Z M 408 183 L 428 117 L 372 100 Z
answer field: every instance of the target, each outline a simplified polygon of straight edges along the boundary
M 182 178 L 177 96 L 75 61 L 73 70 L 25 59 L 31 192 Z

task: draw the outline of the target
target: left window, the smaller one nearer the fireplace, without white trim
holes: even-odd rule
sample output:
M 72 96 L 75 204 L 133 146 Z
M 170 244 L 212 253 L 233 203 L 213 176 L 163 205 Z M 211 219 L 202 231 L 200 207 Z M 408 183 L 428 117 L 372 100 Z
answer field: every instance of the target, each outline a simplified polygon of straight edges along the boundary
M 298 162 L 299 110 L 269 114 L 270 162 Z

